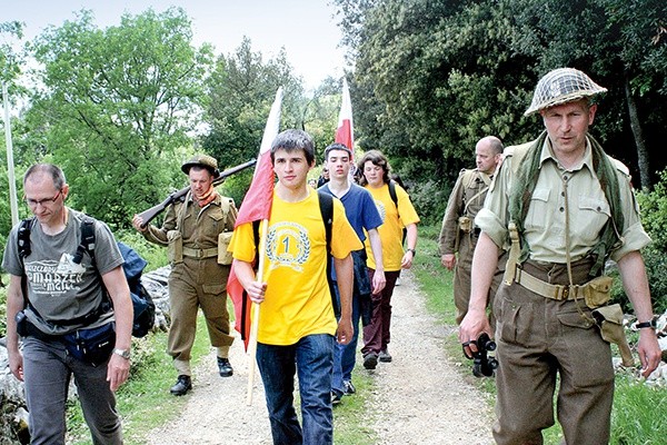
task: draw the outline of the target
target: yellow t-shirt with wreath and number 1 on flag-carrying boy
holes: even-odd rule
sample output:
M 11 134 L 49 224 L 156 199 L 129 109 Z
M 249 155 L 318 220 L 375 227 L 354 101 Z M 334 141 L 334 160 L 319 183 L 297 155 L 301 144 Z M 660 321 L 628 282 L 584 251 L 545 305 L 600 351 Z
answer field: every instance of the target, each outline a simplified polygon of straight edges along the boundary
M 342 204 L 334 199 L 331 255 L 345 258 L 361 247 Z M 255 259 L 251 222 L 235 229 L 229 250 L 241 261 Z M 273 194 L 265 255 L 267 293 L 259 306 L 257 340 L 293 345 L 307 335 L 335 335 L 338 324 L 327 281 L 327 238 L 315 190 L 299 202 L 283 201 Z

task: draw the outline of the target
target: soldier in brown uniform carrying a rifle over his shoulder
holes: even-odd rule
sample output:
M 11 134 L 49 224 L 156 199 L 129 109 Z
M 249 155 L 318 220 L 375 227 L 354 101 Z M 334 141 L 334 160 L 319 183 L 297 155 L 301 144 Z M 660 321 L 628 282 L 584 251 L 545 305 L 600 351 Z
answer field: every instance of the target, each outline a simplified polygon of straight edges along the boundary
M 201 307 L 211 345 L 217 348 L 220 376 L 233 374 L 229 363 L 230 335 L 227 310 L 227 277 L 231 256 L 227 246 L 233 231 L 237 209 L 233 200 L 218 195 L 213 179 L 218 161 L 198 155 L 181 167 L 190 180 L 182 202 L 167 209 L 162 227 L 141 227 L 135 216 L 132 225 L 146 239 L 169 247 L 169 301 L 171 327 L 167 353 L 178 372 L 171 394 L 183 395 L 192 388 L 190 352 L 195 343 L 197 310 Z

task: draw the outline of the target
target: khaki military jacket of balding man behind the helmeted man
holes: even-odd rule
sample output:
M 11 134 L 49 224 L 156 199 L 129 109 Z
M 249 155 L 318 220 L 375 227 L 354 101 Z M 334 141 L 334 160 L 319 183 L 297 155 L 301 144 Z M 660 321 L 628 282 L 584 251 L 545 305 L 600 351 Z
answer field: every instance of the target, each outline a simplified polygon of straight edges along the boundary
M 467 216 L 475 219 L 481 207 L 488 190 L 491 177 L 477 168 L 472 170 L 461 170 L 454 189 L 449 195 L 445 217 L 442 218 L 442 228 L 438 246 L 440 255 L 455 254 L 458 250 L 457 237 L 460 238 L 458 219 Z

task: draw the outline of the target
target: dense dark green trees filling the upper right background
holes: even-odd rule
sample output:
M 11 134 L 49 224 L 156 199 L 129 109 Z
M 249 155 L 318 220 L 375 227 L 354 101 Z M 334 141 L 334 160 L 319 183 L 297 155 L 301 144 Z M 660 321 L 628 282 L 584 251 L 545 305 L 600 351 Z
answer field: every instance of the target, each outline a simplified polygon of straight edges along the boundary
M 653 169 L 666 164 L 657 159 L 667 136 L 663 1 L 335 2 L 355 46 L 359 144 L 387 152 L 416 182 L 412 194 L 424 189 L 422 214 L 439 211 L 480 137 L 511 145 L 540 131 L 539 118 L 522 113 L 538 79 L 558 67 L 579 68 L 609 89 L 594 132 L 631 170 L 639 165 L 643 185 L 648 154 Z M 646 149 L 627 150 L 641 139 Z

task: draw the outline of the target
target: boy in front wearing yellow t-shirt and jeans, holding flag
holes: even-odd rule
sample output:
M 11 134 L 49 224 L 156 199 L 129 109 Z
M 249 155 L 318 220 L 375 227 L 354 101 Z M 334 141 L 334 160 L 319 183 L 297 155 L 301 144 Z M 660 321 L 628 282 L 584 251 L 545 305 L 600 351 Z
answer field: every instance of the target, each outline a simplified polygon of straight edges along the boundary
M 362 248 L 342 204 L 334 199 L 331 255 L 340 293 L 336 322 L 327 281 L 327 239 L 317 191 L 307 184 L 315 166 L 308 134 L 286 130 L 271 144 L 278 176 L 266 243 L 263 281 L 252 269 L 256 255 L 252 224 L 235 229 L 230 245 L 237 277 L 253 303 L 260 304 L 257 364 L 265 385 L 271 434 L 276 444 L 332 444 L 331 372 L 335 335 L 352 338 L 350 253 Z M 293 407 L 295 374 L 299 376 L 302 427 Z

